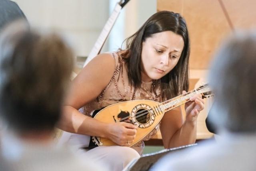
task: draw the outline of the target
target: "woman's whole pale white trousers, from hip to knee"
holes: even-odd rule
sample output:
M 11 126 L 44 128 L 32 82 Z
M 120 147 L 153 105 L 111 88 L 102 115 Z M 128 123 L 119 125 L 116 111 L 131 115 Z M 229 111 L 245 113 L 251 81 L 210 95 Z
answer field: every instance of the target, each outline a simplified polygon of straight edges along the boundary
M 107 171 L 122 171 L 130 161 L 139 158 L 143 151 L 143 147 L 123 146 L 100 146 L 90 150 L 83 149 L 82 147 L 88 147 L 89 142 L 90 136 L 64 132 L 58 145 L 68 145 L 72 151 L 78 155 L 84 155 L 84 158 L 94 160 L 96 164 L 102 165 Z

